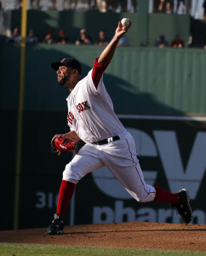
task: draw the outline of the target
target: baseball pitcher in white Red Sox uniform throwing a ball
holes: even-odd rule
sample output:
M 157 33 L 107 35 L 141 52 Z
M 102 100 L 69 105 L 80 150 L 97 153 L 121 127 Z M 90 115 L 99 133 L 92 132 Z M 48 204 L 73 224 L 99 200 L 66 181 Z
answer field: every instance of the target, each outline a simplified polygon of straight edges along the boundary
M 66 207 L 78 181 L 89 172 L 106 166 L 122 183 L 123 187 L 139 202 L 168 202 L 177 209 L 182 221 L 189 224 L 192 220 L 190 197 L 186 189 L 178 193 L 157 186 L 146 184 L 137 153 L 134 139 L 117 119 L 113 111 L 112 100 L 106 92 L 103 73 L 112 61 L 118 41 L 129 30 L 118 22 L 111 42 L 94 60 L 93 68 L 85 78 L 81 78 L 81 64 L 71 58 L 51 63 L 57 73 L 58 83 L 70 90 L 67 97 L 68 125 L 70 131 L 56 135 L 52 146 L 62 150 L 76 152 L 74 158 L 65 167 L 60 185 L 59 200 L 54 213 L 54 220 L 47 229 L 47 234 L 62 234 Z M 83 142 L 82 148 L 76 144 Z

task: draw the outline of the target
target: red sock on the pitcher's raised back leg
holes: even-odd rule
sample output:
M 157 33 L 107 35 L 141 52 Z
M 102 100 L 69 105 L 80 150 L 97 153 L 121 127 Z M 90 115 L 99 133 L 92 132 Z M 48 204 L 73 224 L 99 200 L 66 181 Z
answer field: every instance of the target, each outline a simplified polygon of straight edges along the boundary
M 180 198 L 176 194 L 170 193 L 161 187 L 154 187 L 156 189 L 156 196 L 154 201 L 169 202 L 174 205 L 180 203 Z

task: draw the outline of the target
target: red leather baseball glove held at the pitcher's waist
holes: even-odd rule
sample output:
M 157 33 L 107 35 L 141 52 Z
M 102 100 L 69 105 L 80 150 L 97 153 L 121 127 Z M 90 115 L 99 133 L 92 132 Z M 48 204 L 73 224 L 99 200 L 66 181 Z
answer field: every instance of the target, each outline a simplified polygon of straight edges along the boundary
M 51 140 L 51 152 L 58 153 L 58 155 L 60 155 L 61 151 L 77 153 L 81 148 L 81 145 L 81 141 L 74 140 L 61 134 L 56 134 Z

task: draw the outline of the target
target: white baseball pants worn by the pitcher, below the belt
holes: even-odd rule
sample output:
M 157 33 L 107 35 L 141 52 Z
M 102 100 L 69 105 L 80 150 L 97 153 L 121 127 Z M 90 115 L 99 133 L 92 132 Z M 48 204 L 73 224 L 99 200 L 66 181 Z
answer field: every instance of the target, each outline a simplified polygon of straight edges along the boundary
M 128 131 L 118 136 L 120 140 L 105 145 L 84 145 L 66 165 L 63 179 L 77 183 L 87 173 L 106 166 L 136 201 L 153 201 L 156 190 L 145 183 L 133 137 Z

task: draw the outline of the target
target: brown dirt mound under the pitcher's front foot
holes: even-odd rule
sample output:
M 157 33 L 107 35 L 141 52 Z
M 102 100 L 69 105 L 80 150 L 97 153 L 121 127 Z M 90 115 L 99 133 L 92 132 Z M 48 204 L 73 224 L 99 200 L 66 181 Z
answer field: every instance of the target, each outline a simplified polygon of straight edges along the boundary
M 65 234 L 46 229 L 0 231 L 0 242 L 84 247 L 129 247 L 206 251 L 206 225 L 115 223 L 66 226 Z

